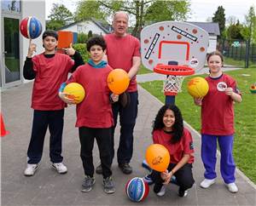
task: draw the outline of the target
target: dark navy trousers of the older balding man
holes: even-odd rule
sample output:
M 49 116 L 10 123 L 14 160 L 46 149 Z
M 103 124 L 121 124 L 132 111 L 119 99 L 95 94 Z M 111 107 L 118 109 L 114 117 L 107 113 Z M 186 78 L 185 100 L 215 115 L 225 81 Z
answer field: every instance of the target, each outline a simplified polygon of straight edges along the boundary
M 133 153 L 133 129 L 137 118 L 138 94 L 129 92 L 131 102 L 125 108 L 119 102 L 112 106 L 114 126 L 112 128 L 112 161 L 114 157 L 114 129 L 116 127 L 119 114 L 120 121 L 120 138 L 117 152 L 119 164 L 130 163 Z

